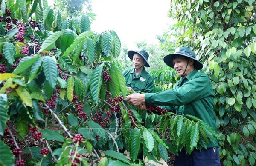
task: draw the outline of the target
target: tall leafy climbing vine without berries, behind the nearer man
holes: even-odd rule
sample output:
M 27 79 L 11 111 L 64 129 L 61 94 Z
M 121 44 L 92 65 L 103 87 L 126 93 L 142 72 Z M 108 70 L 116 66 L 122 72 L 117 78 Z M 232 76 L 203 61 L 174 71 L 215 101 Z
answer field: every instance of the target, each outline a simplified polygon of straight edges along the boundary
M 255 0 L 172 0 L 178 43 L 191 46 L 215 91 L 222 165 L 255 165 Z

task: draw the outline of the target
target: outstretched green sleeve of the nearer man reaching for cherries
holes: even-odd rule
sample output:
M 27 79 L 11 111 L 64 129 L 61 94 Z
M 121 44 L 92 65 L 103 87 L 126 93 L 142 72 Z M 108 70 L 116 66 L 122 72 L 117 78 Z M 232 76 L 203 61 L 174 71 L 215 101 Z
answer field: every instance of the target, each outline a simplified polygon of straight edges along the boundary
M 181 106 L 203 97 L 209 87 L 209 77 L 200 74 L 186 81 L 180 88 L 145 94 L 145 101 L 149 105 Z

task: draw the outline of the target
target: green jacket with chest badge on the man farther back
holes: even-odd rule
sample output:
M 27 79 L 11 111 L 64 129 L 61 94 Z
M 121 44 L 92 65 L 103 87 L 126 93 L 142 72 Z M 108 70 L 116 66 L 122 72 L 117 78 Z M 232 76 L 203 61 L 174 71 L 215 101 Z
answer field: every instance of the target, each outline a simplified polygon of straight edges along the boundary
M 154 79 L 145 68 L 135 76 L 134 68 L 122 72 L 125 77 L 126 86 L 131 87 L 135 92 L 154 93 Z

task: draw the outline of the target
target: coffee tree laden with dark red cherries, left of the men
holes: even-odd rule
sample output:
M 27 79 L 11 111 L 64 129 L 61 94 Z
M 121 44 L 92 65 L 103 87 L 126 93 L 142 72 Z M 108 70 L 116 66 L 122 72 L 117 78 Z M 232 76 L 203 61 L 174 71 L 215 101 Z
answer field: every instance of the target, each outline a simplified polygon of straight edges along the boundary
M 143 165 L 140 152 L 167 161 L 168 149 L 191 152 L 217 137 L 195 117 L 125 103 L 115 31 L 91 31 L 86 14 L 63 20 L 47 0 L 0 2 L 1 165 Z M 158 132 L 169 128 L 164 140 Z

